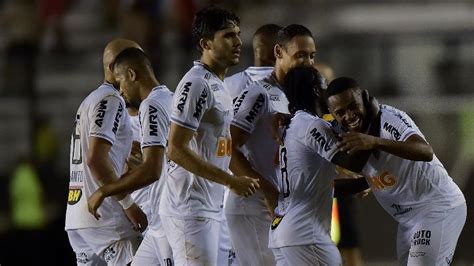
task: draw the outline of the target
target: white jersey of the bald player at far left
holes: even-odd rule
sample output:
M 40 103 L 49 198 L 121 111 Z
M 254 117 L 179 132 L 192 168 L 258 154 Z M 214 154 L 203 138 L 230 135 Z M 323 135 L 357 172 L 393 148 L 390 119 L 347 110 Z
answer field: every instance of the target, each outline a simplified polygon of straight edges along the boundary
M 125 102 L 108 83 L 102 84 L 81 103 L 71 136 L 70 181 L 66 210 L 66 230 L 130 225 L 122 206 L 114 198 L 106 198 L 96 220 L 87 208 L 87 199 L 101 185 L 87 166 L 89 138 L 104 139 L 112 144 L 109 160 L 117 176 L 130 154 L 132 130 Z

